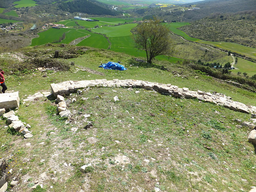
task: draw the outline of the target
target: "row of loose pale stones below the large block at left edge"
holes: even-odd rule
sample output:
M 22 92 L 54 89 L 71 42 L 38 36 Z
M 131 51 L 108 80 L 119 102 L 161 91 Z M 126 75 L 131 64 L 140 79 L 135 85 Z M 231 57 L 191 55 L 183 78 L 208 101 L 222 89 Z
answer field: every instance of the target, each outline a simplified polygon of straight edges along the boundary
M 23 134 L 25 138 L 31 138 L 33 137 L 33 134 L 28 129 L 31 128 L 29 124 L 22 123 L 19 120 L 19 117 L 16 116 L 14 111 L 10 111 L 8 113 L 5 113 L 5 109 L 0 109 L 0 116 L 2 116 L 7 119 L 7 123 L 9 124 L 10 128 L 15 129 L 16 132 L 20 132 Z M 26 126 L 24 125 L 26 124 Z

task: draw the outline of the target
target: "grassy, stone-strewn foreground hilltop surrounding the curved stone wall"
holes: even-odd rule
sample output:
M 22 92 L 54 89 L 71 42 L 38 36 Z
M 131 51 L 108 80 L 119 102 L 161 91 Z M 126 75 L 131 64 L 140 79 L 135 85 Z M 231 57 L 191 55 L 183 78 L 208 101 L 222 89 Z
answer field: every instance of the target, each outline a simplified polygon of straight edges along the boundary
M 73 58 L 50 59 L 56 50 L 61 57 L 72 53 Z M 110 60 L 121 61 L 127 70 L 98 68 Z M 90 47 L 27 47 L 2 55 L 1 61 L 8 92 L 19 91 L 20 108 L 15 113 L 33 133 L 23 139 L 5 126 L 6 119 L 0 120 L 7 180 L 17 181 L 9 185 L 10 192 L 36 192 L 30 189 L 36 184 L 44 192 L 249 191 L 255 183 L 255 151 L 247 141 L 251 128 L 236 128 L 249 114 L 198 99 L 123 87 L 90 86 L 80 94 L 66 95 L 65 100 L 76 99 L 68 105 L 74 116 L 67 124 L 67 118 L 56 114 L 52 96 L 24 103 L 29 95 L 50 91 L 50 84 L 68 80 L 138 79 L 223 93 L 248 105 L 255 104 L 253 92 L 203 75 L 186 62 L 155 60 L 149 65 L 124 53 Z M 45 65 L 44 61 L 49 69 L 32 67 Z M 51 68 L 54 63 L 70 69 L 56 70 Z M 92 128 L 85 129 L 88 122 Z M 83 165 L 89 165 L 85 173 L 80 172 Z

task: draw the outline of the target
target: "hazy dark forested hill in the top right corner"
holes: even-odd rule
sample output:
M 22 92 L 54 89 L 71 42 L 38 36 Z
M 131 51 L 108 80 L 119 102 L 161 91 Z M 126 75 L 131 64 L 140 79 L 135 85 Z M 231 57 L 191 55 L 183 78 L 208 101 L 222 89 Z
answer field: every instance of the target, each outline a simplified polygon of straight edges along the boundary
M 200 8 L 184 12 L 183 17 L 189 21 L 202 19 L 211 13 L 219 12 L 223 14 L 256 10 L 255 0 L 205 0 L 185 5 L 196 5 L 196 7 Z

